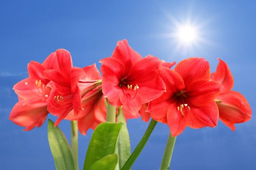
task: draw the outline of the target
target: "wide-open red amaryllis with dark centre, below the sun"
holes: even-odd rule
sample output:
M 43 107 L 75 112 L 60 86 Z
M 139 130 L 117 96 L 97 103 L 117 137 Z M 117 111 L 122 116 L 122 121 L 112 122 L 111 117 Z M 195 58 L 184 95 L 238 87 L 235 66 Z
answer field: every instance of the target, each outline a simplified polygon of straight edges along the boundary
M 189 126 L 215 127 L 218 108 L 214 101 L 219 85 L 210 80 L 210 66 L 203 58 L 188 58 L 177 64 L 175 70 L 161 68 L 160 75 L 166 92 L 148 105 L 152 119 L 168 123 L 172 136 Z

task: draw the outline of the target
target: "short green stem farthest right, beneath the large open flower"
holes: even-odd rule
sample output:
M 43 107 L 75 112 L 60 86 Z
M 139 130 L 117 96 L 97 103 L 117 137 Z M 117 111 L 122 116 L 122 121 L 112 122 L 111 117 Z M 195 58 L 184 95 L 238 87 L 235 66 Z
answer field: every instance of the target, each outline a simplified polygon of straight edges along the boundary
M 166 146 L 165 146 L 160 170 L 169 170 L 172 155 L 173 155 L 175 141 L 176 141 L 176 136 L 172 137 L 172 134 L 170 133 L 167 143 L 166 143 Z

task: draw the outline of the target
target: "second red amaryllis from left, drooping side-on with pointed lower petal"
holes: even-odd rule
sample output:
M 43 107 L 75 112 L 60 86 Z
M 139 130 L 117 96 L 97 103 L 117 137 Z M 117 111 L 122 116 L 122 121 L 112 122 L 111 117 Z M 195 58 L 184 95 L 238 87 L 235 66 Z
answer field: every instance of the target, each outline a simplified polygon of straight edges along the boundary
M 81 97 L 98 83 L 97 81 L 84 82 L 79 85 L 80 80 L 85 78 L 84 70 L 73 67 L 69 51 L 59 49 L 56 54 L 59 69 L 44 71 L 44 77 L 54 82 L 48 99 L 48 110 L 51 114 L 59 117 L 55 126 L 73 109 L 74 116 L 77 116 L 82 110 Z

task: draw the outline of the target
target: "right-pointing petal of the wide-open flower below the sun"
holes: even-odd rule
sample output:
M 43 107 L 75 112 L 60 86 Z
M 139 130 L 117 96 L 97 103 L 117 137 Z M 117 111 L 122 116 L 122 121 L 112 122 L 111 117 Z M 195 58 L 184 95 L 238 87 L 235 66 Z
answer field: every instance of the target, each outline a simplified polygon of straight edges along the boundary
M 211 80 L 196 80 L 188 85 L 186 96 L 195 106 L 203 106 L 219 95 L 222 86 Z

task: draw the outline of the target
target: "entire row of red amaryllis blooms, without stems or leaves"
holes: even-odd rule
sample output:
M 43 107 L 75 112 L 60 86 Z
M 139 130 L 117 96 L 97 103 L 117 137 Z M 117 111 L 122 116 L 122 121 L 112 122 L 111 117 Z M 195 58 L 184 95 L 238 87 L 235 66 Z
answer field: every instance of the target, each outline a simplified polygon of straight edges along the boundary
M 10 118 L 31 130 L 45 121 L 47 114 L 78 120 L 85 135 L 106 121 L 106 104 L 122 106 L 126 119 L 150 118 L 168 124 L 172 136 L 188 126 L 216 127 L 220 119 L 232 130 L 235 123 L 251 118 L 249 103 L 232 91 L 233 76 L 227 64 L 219 59 L 216 72 L 204 58 L 168 63 L 158 57 L 142 57 L 127 40 L 118 41 L 111 57 L 96 65 L 73 67 L 68 51 L 59 49 L 40 64 L 28 64 L 29 77 L 14 85 L 19 102 Z

